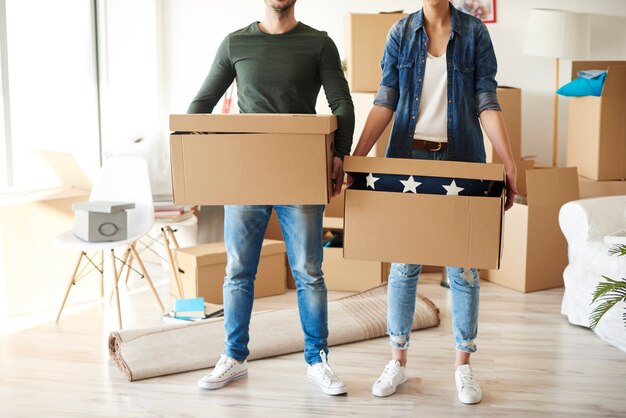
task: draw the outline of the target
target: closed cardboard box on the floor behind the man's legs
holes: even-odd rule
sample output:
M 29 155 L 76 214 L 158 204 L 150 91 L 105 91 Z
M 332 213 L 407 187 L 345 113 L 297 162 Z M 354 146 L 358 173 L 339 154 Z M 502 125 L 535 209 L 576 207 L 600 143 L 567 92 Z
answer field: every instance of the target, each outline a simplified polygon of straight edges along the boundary
M 285 293 L 286 248 L 281 241 L 264 240 L 254 282 L 254 297 Z M 179 268 L 183 298 L 204 297 L 209 303 L 222 304 L 226 275 L 226 247 L 223 242 L 174 250 Z

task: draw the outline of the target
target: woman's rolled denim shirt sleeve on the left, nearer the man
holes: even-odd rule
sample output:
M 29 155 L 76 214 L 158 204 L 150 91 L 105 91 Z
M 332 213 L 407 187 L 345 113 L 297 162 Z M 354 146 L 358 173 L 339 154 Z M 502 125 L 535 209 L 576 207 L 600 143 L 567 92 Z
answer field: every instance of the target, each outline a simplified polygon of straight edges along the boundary
M 375 105 L 388 107 L 394 111 L 396 110 L 400 98 L 400 82 L 398 78 L 399 32 L 400 26 L 396 23 L 389 30 L 387 35 L 385 51 L 383 52 L 383 58 L 380 62 L 383 77 L 378 93 L 374 98 Z

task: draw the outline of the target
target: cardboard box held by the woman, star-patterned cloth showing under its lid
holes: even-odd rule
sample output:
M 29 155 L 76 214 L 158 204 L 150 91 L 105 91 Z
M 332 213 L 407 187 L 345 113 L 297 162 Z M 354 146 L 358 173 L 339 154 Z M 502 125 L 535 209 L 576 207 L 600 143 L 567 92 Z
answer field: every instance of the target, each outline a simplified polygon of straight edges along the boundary
M 500 164 L 346 157 L 346 172 L 504 181 Z M 344 257 L 435 266 L 497 268 L 499 197 L 346 190 Z

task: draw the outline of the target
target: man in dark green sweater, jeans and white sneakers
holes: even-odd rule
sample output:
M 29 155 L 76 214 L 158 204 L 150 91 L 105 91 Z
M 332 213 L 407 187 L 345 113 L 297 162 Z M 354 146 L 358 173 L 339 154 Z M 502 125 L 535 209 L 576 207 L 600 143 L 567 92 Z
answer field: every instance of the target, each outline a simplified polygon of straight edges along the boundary
M 332 164 L 333 192 L 337 194 L 344 177 L 343 156 L 350 152 L 352 144 L 354 106 L 335 44 L 325 32 L 295 19 L 295 3 L 296 0 L 265 0 L 262 22 L 226 37 L 188 113 L 211 113 L 236 79 L 242 113 L 314 114 L 323 86 L 339 125 Z M 327 362 L 327 295 L 321 270 L 324 206 L 276 205 L 274 209 L 298 287 L 307 375 L 327 394 L 345 393 L 346 385 Z M 254 278 L 271 211 L 270 205 L 225 206 L 226 347 L 211 374 L 198 382 L 204 389 L 221 388 L 248 372 Z

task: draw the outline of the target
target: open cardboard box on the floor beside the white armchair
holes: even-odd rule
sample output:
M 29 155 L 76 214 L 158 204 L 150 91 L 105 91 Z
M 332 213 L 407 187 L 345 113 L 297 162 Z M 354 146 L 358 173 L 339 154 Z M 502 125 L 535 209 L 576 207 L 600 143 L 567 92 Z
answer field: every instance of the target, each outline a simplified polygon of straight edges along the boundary
M 576 168 L 529 170 L 526 187 L 527 204 L 516 203 L 505 215 L 500 269 L 486 278 L 520 292 L 561 287 L 567 241 L 558 216 L 564 203 L 578 199 Z

